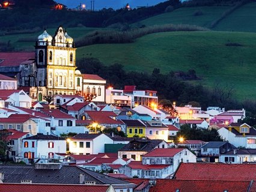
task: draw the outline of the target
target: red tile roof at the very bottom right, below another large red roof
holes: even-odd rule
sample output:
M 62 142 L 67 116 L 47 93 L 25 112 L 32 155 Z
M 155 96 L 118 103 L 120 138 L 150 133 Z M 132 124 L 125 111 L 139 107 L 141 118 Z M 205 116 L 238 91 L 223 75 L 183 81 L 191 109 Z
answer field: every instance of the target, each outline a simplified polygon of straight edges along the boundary
M 249 181 L 184 181 L 171 179 L 157 179 L 156 185 L 150 187 L 149 192 L 241 192 L 247 191 Z

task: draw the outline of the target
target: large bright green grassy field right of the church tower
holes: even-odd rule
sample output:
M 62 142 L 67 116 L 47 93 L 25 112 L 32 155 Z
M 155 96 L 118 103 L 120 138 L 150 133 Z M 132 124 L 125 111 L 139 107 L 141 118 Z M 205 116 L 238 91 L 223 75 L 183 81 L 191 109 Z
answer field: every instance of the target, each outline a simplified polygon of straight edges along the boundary
M 99 58 L 106 65 L 120 63 L 126 70 L 162 73 L 195 69 L 198 81 L 212 87 L 231 85 L 241 100 L 256 97 L 256 34 L 245 32 L 162 32 L 130 44 L 81 47 L 77 57 Z M 226 46 L 239 43 L 242 46 Z M 86 67 L 86 65 L 85 65 Z

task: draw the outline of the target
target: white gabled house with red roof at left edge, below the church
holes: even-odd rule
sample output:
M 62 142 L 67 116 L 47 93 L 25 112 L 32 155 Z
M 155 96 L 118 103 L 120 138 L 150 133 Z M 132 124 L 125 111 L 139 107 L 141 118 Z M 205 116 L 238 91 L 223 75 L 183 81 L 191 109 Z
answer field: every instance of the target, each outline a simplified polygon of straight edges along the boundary
M 0 98 L 4 99 L 5 106 L 8 104 L 26 108 L 32 106 L 32 98 L 23 90 L 0 90 Z

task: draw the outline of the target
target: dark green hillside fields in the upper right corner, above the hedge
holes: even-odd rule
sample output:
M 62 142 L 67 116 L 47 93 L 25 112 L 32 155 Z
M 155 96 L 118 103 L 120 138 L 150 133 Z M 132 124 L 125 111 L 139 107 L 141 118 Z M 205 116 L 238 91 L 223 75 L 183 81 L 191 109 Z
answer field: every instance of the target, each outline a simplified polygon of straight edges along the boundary
M 173 24 L 189 24 L 210 27 L 210 24 L 221 17 L 224 11 L 231 7 L 183 7 L 172 11 L 171 13 L 159 14 L 154 17 L 134 23 L 136 26 L 151 26 L 163 25 L 168 23 Z M 194 16 L 195 12 L 201 10 L 201 16 Z M 221 20 L 218 25 L 213 28 L 216 31 L 241 31 L 241 32 L 256 32 L 256 2 L 243 5 L 235 10 L 233 13 Z

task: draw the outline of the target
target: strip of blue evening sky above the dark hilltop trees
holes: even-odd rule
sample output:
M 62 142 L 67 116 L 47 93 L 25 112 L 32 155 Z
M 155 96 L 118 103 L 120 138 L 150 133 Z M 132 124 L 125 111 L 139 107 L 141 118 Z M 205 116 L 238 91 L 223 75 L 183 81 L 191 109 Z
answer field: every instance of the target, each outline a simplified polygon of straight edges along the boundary
M 61 4 L 67 5 L 69 8 L 75 8 L 80 3 L 85 4 L 87 9 L 91 8 L 91 0 L 55 0 Z M 136 8 L 138 6 L 151 6 L 156 5 L 159 2 L 164 2 L 166 0 L 94 0 L 94 10 L 100 10 L 102 8 L 122 8 L 127 3 L 129 3 L 130 7 Z

